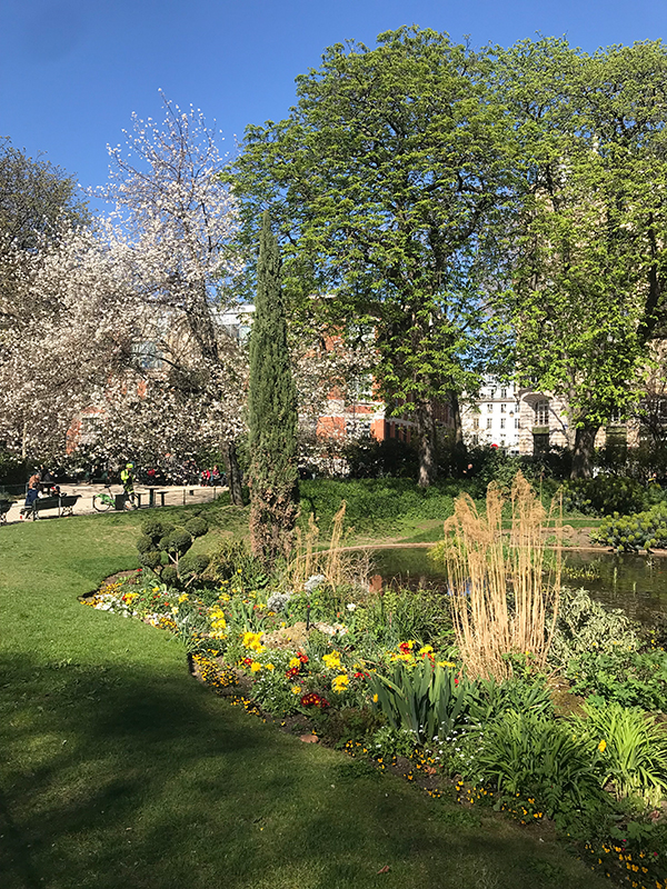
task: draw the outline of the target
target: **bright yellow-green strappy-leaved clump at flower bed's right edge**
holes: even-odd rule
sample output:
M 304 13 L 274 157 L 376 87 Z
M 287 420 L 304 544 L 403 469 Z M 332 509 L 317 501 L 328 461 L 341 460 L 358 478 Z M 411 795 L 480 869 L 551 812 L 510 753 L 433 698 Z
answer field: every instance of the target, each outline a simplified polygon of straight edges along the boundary
M 667 790 L 667 726 L 637 708 L 586 703 L 587 728 L 598 747 L 601 786 L 617 796 L 641 796 L 657 806 Z

